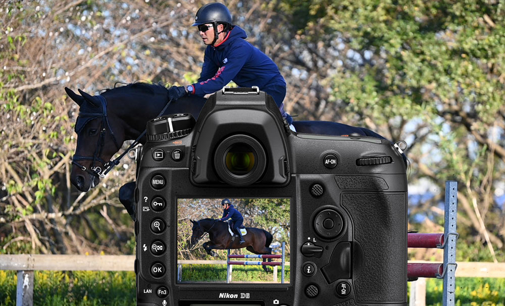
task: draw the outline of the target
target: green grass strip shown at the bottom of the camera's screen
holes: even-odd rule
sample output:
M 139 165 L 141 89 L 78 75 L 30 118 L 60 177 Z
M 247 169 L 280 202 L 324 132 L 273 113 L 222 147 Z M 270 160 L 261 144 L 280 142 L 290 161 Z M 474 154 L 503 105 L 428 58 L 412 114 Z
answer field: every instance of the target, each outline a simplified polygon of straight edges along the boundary
M 233 265 L 232 281 L 273 282 L 273 269 L 269 266 L 269 273 L 265 273 L 261 266 Z M 277 268 L 277 282 L 281 282 L 281 267 Z M 285 282 L 289 282 L 289 266 L 285 266 Z M 186 281 L 226 281 L 226 265 L 182 265 L 182 282 Z

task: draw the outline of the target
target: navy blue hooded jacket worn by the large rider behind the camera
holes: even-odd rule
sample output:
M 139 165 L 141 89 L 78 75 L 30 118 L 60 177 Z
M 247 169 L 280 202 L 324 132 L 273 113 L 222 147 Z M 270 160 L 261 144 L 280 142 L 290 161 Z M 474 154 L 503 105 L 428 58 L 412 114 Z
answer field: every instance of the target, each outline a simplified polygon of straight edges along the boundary
M 193 84 L 193 94 L 204 96 L 215 93 L 230 81 L 240 87 L 258 86 L 272 96 L 282 116 L 291 124 L 292 118 L 286 114 L 282 103 L 286 95 L 286 81 L 273 60 L 245 38 L 245 31 L 233 26 L 223 42 L 207 46 L 200 78 Z

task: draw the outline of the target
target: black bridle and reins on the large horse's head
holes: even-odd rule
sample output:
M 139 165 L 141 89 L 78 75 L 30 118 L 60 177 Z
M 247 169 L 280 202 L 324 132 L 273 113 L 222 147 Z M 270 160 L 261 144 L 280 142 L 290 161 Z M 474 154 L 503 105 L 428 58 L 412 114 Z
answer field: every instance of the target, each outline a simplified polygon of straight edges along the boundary
M 102 95 L 97 95 L 95 97 L 97 97 L 98 100 L 100 101 L 100 103 L 102 103 L 102 112 L 101 113 L 99 113 L 99 112 L 86 113 L 86 112 L 80 111 L 78 116 L 79 117 L 92 117 L 91 119 L 102 117 L 102 123 L 100 124 L 100 137 L 98 137 L 98 141 L 96 143 L 96 148 L 95 148 L 95 151 L 94 151 L 92 157 L 74 154 L 74 156 L 72 157 L 72 164 L 78 166 L 81 170 L 86 171 L 87 173 L 89 173 L 95 177 L 102 177 L 103 178 L 103 177 L 105 177 L 105 175 L 107 173 L 109 173 L 109 171 L 111 171 L 114 168 L 114 166 L 119 164 L 119 161 L 121 160 L 121 158 L 123 158 L 123 156 L 125 156 L 128 153 L 128 150 L 135 147 L 139 143 L 139 140 L 145 135 L 146 130 L 144 130 L 144 132 L 142 132 L 142 134 L 140 134 L 140 136 L 137 137 L 137 139 L 135 139 L 135 141 L 121 155 L 119 155 L 114 160 L 109 160 L 106 162 L 105 160 L 100 158 L 100 155 L 102 155 L 102 151 L 104 150 L 105 133 L 107 131 L 106 128 L 108 128 L 109 132 L 111 132 L 112 138 L 114 140 L 114 144 L 116 145 L 116 148 L 118 149 L 118 151 L 121 149 L 121 146 L 118 144 L 116 136 L 114 135 L 114 131 L 112 131 L 111 125 L 109 123 L 109 117 L 107 115 L 107 100 Z M 160 112 L 158 117 L 161 116 L 165 112 L 165 110 L 167 110 L 167 108 L 171 102 L 172 102 L 172 99 L 170 99 L 167 102 L 167 104 L 165 105 L 163 110 Z M 82 160 L 91 160 L 92 161 L 91 167 L 89 167 L 89 169 L 88 169 L 85 166 L 83 166 L 82 164 L 80 164 L 79 161 L 82 161 Z M 102 168 L 100 168 L 99 166 L 94 166 L 95 161 L 99 161 L 100 163 L 102 163 L 104 165 L 104 169 L 102 170 Z

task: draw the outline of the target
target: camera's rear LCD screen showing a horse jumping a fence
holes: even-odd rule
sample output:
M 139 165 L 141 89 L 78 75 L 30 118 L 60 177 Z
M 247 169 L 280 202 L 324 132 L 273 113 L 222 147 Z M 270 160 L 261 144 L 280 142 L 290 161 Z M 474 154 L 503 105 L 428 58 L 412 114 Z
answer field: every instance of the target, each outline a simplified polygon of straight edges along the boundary
M 177 282 L 289 283 L 290 203 L 177 199 Z

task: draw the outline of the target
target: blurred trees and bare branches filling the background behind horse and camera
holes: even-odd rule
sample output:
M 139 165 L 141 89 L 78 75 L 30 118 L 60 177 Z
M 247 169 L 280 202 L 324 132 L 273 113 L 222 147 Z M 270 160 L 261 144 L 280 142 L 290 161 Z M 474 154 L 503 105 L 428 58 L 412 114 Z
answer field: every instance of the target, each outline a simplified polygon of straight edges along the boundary
M 133 223 L 117 196 L 135 166 L 123 159 L 87 193 L 71 186 L 78 106 L 63 88 L 194 81 L 205 46 L 190 25 L 203 4 L 2 2 L 0 253 L 133 254 Z M 225 4 L 279 66 L 296 120 L 407 141 L 411 230 L 443 230 L 444 181 L 457 180 L 458 260 L 505 259 L 503 2 Z

